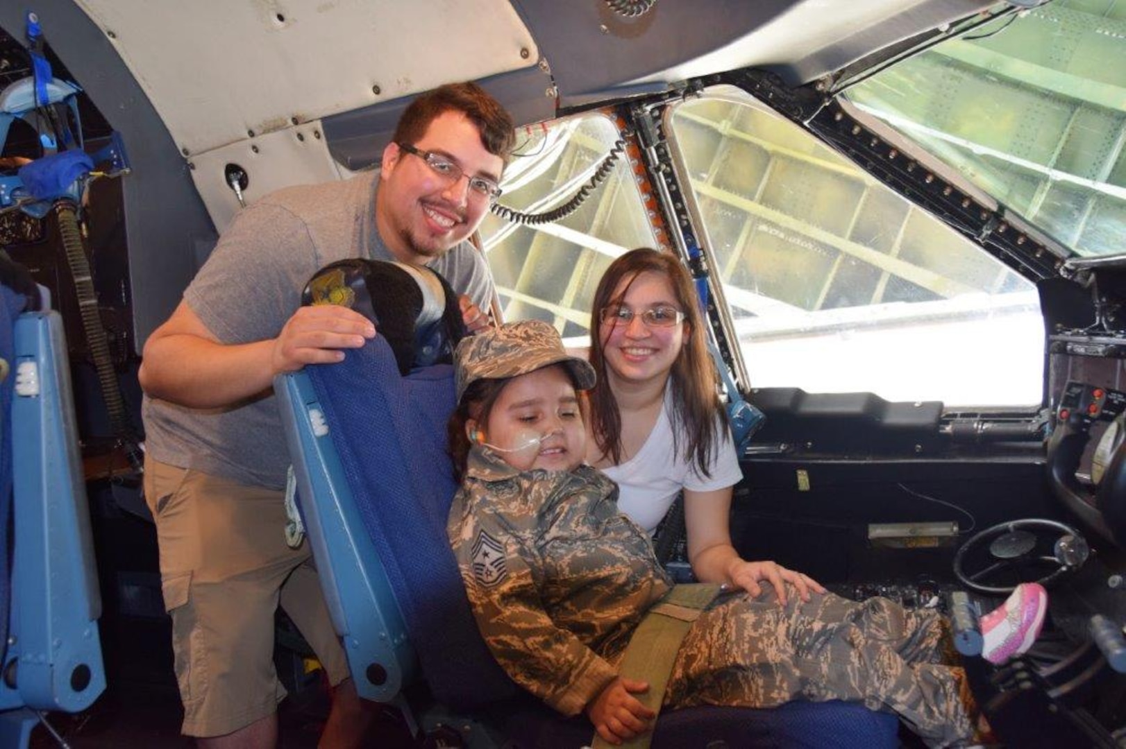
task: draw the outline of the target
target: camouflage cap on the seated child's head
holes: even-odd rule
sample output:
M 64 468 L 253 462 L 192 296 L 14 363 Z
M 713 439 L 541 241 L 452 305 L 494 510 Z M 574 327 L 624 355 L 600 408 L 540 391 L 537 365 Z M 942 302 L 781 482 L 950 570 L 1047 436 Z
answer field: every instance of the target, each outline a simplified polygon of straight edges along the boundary
M 454 353 L 457 400 L 477 380 L 499 380 L 527 374 L 551 364 L 566 364 L 580 390 L 595 387 L 598 377 L 586 359 L 572 357 L 554 327 L 525 319 L 492 327 L 462 339 Z

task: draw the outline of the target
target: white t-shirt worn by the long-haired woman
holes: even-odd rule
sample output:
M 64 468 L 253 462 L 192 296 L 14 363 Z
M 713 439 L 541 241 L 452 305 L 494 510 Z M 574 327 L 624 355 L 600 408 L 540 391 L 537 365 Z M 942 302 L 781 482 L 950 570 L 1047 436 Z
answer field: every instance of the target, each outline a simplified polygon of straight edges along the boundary
M 618 484 L 618 509 L 650 533 L 669 512 L 680 489 L 714 491 L 734 486 L 743 478 L 731 433 L 718 418 L 715 423 L 716 448 L 708 466 L 709 478 L 699 473 L 696 461 L 685 461 L 683 442 L 687 437 L 680 440 L 680 454 L 673 451 L 672 421 L 669 416 L 671 399 L 672 391 L 665 388 L 664 406 L 637 454 L 619 466 L 601 469 Z

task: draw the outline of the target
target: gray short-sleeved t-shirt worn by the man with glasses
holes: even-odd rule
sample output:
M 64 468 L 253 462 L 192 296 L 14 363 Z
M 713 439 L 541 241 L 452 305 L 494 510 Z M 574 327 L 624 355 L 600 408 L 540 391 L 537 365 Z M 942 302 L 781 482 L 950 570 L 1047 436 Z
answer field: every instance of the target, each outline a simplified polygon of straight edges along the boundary
M 348 258 L 393 260 L 375 224 L 378 174 L 287 188 L 241 211 L 184 292 L 222 343 L 272 339 L 320 268 Z M 493 296 L 484 258 L 468 242 L 429 267 L 482 309 Z M 289 455 L 272 395 L 216 409 L 145 396 L 145 449 L 157 460 L 280 489 Z

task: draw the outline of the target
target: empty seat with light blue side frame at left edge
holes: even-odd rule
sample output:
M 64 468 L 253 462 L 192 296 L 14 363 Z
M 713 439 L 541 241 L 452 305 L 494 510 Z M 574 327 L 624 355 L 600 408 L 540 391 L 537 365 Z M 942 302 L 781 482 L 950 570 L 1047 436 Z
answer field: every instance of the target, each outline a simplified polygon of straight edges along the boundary
M 62 318 L 0 286 L 0 746 L 106 687 L 101 598 Z M 9 544 L 11 547 L 9 548 Z M 10 569 L 8 560 L 11 560 Z

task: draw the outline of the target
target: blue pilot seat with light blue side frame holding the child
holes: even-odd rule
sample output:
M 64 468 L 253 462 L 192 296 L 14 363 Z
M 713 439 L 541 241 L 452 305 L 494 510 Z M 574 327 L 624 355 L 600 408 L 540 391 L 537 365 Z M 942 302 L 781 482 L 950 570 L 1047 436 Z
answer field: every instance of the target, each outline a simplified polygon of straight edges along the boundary
M 470 611 L 446 536 L 453 368 L 402 377 L 376 336 L 339 364 L 275 380 L 298 504 L 357 692 L 470 746 L 578 747 L 593 728 L 509 680 Z M 403 697 L 418 680 L 427 704 Z M 447 728 L 448 730 L 448 728 Z M 841 702 L 665 711 L 654 747 L 895 747 L 897 720 Z

